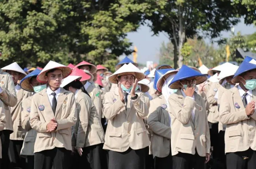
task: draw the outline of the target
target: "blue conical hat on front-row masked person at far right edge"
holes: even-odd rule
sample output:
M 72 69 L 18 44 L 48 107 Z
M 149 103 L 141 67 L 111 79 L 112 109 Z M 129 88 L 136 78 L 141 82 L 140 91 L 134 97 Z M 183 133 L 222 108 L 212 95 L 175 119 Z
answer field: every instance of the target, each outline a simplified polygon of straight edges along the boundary
M 233 83 L 239 83 L 240 80 L 238 79 L 237 76 L 240 76 L 241 74 L 243 74 L 244 72 L 247 72 L 249 70 L 254 70 L 256 69 L 256 64 L 253 64 L 253 63 L 249 63 L 249 62 L 246 62 L 245 60 L 240 64 L 240 66 L 238 67 L 233 79 L 232 79 L 232 82 Z

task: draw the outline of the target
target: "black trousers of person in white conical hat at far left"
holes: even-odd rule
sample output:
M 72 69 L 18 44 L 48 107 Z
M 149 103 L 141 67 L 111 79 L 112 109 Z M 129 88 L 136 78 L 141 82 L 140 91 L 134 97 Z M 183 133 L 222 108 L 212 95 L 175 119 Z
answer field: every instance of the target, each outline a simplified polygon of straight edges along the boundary
M 10 159 L 10 169 L 26 168 L 26 158 L 20 156 L 23 145 L 22 140 L 10 140 L 8 156 Z

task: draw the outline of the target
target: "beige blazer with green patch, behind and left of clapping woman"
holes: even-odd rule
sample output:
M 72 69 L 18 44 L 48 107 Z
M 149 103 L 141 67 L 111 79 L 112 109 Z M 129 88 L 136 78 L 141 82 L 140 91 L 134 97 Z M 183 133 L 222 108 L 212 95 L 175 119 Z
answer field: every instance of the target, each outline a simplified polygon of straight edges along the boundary
M 95 108 L 97 110 L 98 113 L 98 117 L 102 117 L 102 112 L 101 112 L 101 91 L 99 88 L 97 88 L 95 86 L 94 83 L 92 83 L 87 89 L 86 91 L 90 94 L 91 99 L 93 100 L 93 103 L 95 105 Z

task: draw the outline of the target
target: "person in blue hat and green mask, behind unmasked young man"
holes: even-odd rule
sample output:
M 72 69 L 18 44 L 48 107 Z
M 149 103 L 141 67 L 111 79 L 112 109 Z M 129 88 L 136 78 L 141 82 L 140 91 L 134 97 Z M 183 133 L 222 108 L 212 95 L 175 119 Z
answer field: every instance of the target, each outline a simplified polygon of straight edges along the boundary
M 23 90 L 38 93 L 43 89 L 46 89 L 46 84 L 39 83 L 37 81 L 37 75 L 41 72 L 39 69 L 35 69 L 20 82 L 20 87 Z M 21 112 L 21 126 L 26 131 L 24 142 L 20 150 L 20 156 L 26 158 L 26 169 L 34 169 L 34 145 L 35 138 L 37 137 L 37 131 L 32 129 L 29 123 L 31 101 L 33 96 L 30 96 L 22 101 Z

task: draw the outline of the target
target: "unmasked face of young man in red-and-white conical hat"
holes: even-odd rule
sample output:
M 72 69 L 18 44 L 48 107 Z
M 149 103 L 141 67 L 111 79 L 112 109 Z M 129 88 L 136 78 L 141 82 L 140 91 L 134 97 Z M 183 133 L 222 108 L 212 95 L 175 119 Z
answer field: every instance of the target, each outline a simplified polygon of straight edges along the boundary
M 57 89 L 60 87 L 60 84 L 63 80 L 62 71 L 60 69 L 57 69 L 51 73 L 48 73 L 45 78 L 48 81 L 50 87 Z

